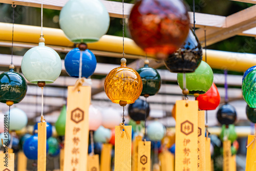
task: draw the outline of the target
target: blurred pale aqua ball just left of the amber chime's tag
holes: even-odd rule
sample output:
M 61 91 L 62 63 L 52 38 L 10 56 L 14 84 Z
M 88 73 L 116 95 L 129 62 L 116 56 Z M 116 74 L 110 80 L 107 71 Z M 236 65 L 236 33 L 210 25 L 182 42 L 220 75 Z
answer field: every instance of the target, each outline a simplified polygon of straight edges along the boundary
M 109 142 L 111 139 L 111 130 L 106 129 L 103 126 L 100 126 L 98 130 L 94 132 L 93 138 L 95 142 Z

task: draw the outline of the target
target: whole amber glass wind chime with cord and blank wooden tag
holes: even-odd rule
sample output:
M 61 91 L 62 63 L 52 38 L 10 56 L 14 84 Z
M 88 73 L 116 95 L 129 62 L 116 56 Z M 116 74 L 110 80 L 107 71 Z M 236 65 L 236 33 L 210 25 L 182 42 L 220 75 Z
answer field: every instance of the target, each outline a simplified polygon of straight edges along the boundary
M 124 17 L 122 21 L 123 58 L 121 59 L 121 66 L 113 69 L 106 76 L 104 90 L 112 102 L 123 107 L 122 123 L 115 127 L 115 170 L 130 171 L 132 164 L 132 126 L 124 125 L 124 106 L 134 103 L 139 98 L 142 92 L 142 81 L 137 71 L 126 67 L 126 59 L 124 58 Z

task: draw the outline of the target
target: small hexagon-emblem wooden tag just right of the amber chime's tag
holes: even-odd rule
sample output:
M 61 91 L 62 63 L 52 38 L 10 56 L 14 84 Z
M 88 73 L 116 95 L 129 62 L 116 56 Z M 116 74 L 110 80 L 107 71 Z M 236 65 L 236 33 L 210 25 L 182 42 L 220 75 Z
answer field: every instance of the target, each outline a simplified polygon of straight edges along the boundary
M 138 144 L 138 171 L 150 171 L 151 141 L 139 141 Z

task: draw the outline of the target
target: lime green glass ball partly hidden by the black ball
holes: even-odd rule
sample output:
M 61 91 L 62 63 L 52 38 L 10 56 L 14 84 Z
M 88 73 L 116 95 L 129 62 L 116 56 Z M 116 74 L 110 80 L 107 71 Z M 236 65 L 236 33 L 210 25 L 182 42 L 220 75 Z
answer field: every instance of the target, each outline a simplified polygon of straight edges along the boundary
M 183 90 L 183 73 L 178 73 L 177 80 L 180 88 Z M 206 93 L 210 89 L 213 81 L 214 73 L 204 61 L 201 61 L 195 72 L 186 73 L 186 88 L 190 95 Z

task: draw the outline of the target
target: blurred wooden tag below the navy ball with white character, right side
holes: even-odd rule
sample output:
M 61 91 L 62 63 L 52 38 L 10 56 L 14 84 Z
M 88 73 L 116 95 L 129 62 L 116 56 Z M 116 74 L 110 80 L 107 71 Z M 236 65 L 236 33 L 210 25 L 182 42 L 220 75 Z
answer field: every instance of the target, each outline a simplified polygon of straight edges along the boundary
M 223 171 L 231 170 L 231 141 L 223 141 Z

